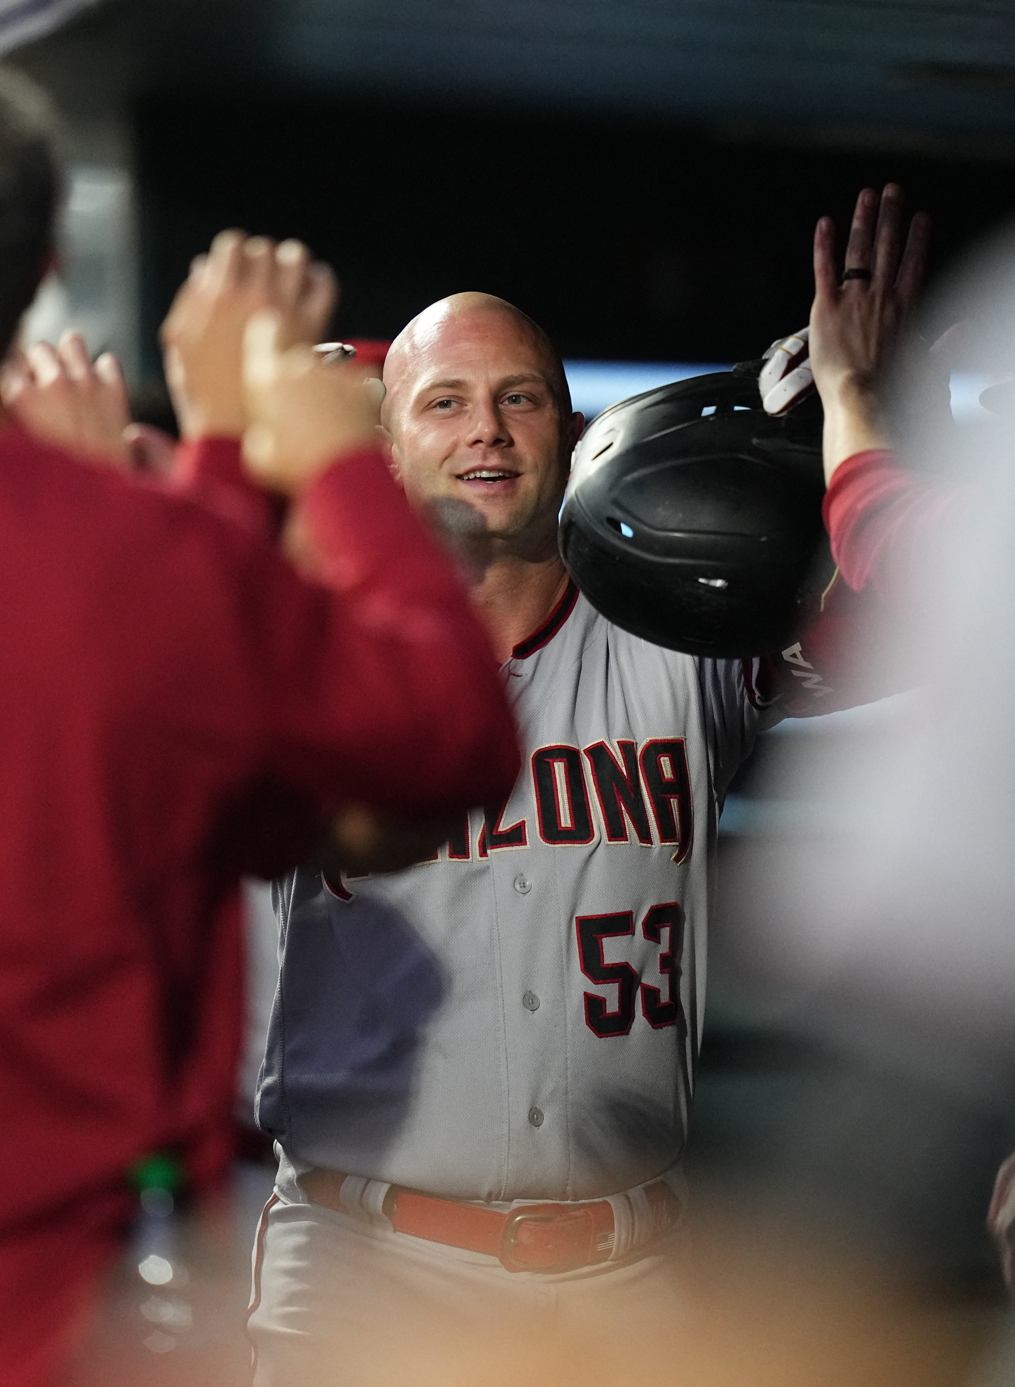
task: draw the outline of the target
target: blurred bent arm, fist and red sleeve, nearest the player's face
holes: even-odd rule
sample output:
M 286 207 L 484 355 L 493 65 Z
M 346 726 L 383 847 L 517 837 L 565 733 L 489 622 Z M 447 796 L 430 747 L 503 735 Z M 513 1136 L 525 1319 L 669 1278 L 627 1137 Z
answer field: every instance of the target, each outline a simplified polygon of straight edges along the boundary
M 325 584 L 330 602 L 315 617 L 326 632 L 308 631 L 304 617 L 269 623 L 280 653 L 301 642 L 305 666 L 299 687 L 287 660 L 268 669 L 289 710 L 287 728 L 272 718 L 276 767 L 301 759 L 325 803 L 372 813 L 365 829 L 355 814 L 333 825 L 347 865 L 405 865 L 447 834 L 426 820 L 492 802 L 494 789 L 510 793 L 519 764 L 514 721 L 454 570 L 375 447 L 372 383 L 325 366 L 307 347 L 283 347 L 282 331 L 272 312 L 247 326 L 243 460 L 260 485 L 293 501 L 312 560 L 303 585 Z M 319 714 L 304 699 L 317 685 L 337 742 L 307 756 L 301 742 L 308 735 L 312 745 Z

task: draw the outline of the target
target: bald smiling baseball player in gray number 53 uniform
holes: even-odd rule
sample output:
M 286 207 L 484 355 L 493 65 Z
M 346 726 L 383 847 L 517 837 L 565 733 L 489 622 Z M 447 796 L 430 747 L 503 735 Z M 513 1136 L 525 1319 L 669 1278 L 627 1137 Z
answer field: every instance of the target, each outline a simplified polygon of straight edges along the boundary
M 679 1343 L 719 810 L 814 657 L 679 655 L 582 598 L 557 516 L 583 420 L 517 308 L 433 304 L 385 384 L 394 474 L 471 574 L 523 768 L 425 863 L 276 886 L 255 1383 L 610 1380 Z M 836 706 L 830 674 L 800 712 Z

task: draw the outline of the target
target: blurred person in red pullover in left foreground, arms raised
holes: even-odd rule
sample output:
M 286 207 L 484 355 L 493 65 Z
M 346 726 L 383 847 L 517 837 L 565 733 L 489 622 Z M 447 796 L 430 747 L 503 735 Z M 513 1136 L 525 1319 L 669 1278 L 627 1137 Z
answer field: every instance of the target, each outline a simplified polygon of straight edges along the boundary
M 51 259 L 57 200 L 42 103 L 4 78 L 4 352 Z M 271 877 L 318 849 L 375 861 L 390 846 L 379 816 L 408 821 L 415 860 L 442 836 L 417 820 L 446 822 L 504 795 L 518 767 L 486 637 L 387 474 L 368 393 L 287 345 L 315 340 L 332 301 L 330 276 L 301 247 L 239 233 L 215 241 L 167 329 L 190 406 L 185 474 L 171 487 L 118 466 L 117 430 L 89 402 L 93 377 L 72 343 L 62 358 L 35 351 L 31 369 L 10 358 L 0 419 L 0 1092 L 12 1143 L 0 1376 L 10 1387 L 43 1387 L 74 1341 L 131 1221 L 135 1165 L 171 1153 L 200 1190 L 229 1158 L 242 874 Z M 247 326 L 265 305 L 275 313 Z M 115 369 L 101 372 L 115 390 Z M 244 429 L 247 479 L 292 505 L 315 553 L 312 580 L 278 552 L 264 510 L 237 509 Z

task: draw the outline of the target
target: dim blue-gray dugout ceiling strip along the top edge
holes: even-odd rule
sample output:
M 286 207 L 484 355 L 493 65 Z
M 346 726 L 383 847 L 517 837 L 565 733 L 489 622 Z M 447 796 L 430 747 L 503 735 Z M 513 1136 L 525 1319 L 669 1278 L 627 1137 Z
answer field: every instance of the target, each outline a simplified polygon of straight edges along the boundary
M 142 86 L 269 79 L 1015 146 L 1011 0 L 114 0 Z

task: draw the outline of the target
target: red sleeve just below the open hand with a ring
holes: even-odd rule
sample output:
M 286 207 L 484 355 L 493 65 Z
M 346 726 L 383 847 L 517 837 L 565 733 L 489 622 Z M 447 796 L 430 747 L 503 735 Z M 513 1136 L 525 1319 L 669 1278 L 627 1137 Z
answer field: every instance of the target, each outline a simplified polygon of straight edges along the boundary
M 891 452 L 854 454 L 825 494 L 825 527 L 839 571 L 857 592 L 908 603 L 969 497 L 968 487 L 946 487 L 896 466 Z

